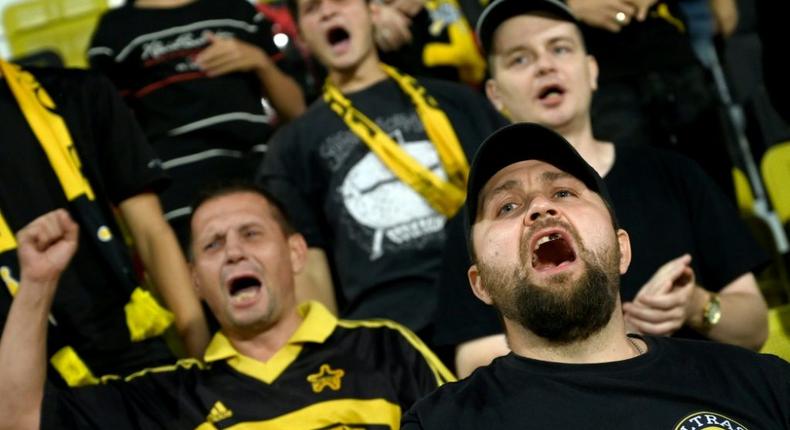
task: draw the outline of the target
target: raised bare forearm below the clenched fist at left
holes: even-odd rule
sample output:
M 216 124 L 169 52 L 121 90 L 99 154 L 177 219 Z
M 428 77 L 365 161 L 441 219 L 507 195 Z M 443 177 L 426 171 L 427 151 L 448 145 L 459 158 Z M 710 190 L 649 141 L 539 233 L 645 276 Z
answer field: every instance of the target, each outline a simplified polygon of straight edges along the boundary
M 47 316 L 57 281 L 24 277 L 0 338 L 0 429 L 38 429 L 46 381 Z

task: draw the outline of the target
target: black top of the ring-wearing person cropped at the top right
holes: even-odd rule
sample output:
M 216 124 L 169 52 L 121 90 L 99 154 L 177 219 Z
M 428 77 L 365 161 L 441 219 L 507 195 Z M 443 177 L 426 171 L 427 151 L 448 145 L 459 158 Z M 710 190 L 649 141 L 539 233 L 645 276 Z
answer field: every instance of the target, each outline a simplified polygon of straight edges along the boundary
M 600 81 L 640 80 L 647 72 L 697 65 L 683 20 L 677 0 L 661 0 L 644 21 L 633 19 L 618 33 L 582 23 L 587 50 L 600 67 Z

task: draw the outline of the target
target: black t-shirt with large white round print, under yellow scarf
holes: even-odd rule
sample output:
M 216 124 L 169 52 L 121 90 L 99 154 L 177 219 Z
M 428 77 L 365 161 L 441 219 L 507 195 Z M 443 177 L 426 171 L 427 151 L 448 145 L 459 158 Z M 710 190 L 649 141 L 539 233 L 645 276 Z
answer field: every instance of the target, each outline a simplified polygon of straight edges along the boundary
M 420 81 L 447 114 L 471 160 L 504 124 L 490 103 L 462 85 Z M 348 94 L 415 159 L 443 172 L 409 97 L 385 79 Z M 272 139 L 260 176 L 311 247 L 323 248 L 337 272 L 341 314 L 386 317 L 412 330 L 435 307 L 435 278 L 445 217 L 398 180 L 323 101 Z

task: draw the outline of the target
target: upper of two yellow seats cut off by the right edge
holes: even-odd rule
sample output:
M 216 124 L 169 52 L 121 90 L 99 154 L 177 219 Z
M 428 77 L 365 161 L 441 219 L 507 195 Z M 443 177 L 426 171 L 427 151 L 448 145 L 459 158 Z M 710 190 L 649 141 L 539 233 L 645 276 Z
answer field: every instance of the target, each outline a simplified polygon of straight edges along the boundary
M 768 148 L 760 168 L 771 204 L 782 224 L 787 225 L 790 222 L 790 142 Z

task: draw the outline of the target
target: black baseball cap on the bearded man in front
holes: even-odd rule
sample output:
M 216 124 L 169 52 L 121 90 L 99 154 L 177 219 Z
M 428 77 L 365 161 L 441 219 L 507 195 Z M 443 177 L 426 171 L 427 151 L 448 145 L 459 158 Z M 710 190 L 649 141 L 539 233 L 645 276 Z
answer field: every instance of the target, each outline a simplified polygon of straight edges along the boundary
M 612 199 L 606 184 L 564 137 L 540 124 L 510 124 L 488 136 L 478 148 L 469 170 L 466 188 L 467 233 L 477 219 L 480 191 L 503 168 L 519 161 L 539 160 L 573 175 L 608 205 L 617 225 Z

